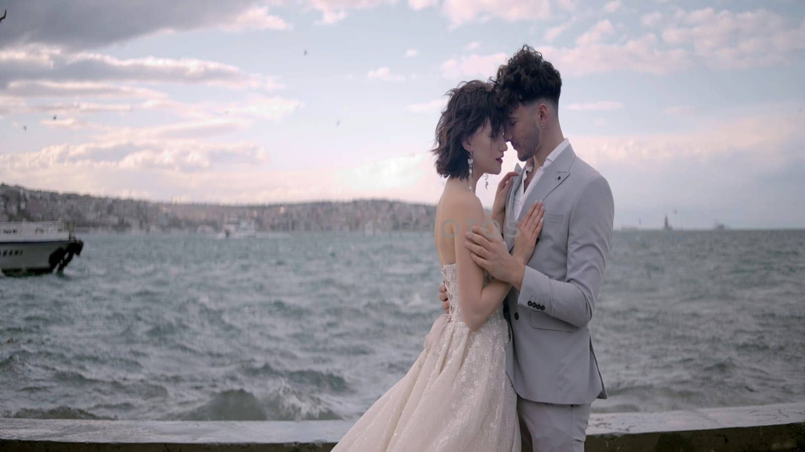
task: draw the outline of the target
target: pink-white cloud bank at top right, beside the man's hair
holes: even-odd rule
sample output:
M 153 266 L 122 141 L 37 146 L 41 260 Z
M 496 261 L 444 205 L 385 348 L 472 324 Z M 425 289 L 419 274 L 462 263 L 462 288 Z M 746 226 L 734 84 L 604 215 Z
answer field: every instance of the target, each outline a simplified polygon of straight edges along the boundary
M 668 25 L 661 31 L 662 39 L 656 31 L 618 36 L 613 24 L 603 19 L 576 39 L 576 47 L 543 46 L 539 50 L 563 75 L 570 76 L 604 72 L 667 75 L 695 67 L 759 68 L 791 64 L 805 50 L 805 21 L 795 23 L 766 10 L 677 10 L 674 14 L 646 14 L 641 22 L 646 27 Z M 563 31 L 559 28 L 555 33 Z M 555 35 L 547 36 L 551 37 Z

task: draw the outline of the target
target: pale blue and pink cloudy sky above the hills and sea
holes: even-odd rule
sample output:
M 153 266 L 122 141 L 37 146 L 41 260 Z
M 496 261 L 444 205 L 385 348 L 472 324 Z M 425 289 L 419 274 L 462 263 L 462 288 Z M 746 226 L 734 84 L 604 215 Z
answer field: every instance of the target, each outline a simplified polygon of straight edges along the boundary
M 0 182 L 436 203 L 445 92 L 529 44 L 615 227 L 805 228 L 801 0 L 0 0 Z M 503 173 L 517 156 L 508 150 Z M 499 176 L 477 195 L 491 207 Z

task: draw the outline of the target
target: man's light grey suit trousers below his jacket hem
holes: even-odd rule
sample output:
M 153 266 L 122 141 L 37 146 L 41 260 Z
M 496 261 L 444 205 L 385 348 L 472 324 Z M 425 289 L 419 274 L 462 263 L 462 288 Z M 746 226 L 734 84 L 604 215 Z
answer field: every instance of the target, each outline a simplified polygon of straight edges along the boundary
M 556 405 L 517 397 L 522 452 L 584 452 L 590 404 Z

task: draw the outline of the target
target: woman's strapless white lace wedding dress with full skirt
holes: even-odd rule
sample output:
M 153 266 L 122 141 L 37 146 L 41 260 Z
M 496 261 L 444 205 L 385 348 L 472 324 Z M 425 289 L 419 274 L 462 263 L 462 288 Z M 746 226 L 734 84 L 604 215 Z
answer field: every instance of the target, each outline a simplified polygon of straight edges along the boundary
M 456 264 L 442 266 L 442 273 L 451 314 L 436 319 L 406 376 L 369 407 L 333 452 L 520 451 L 502 307 L 478 331 L 469 331 L 459 307 Z

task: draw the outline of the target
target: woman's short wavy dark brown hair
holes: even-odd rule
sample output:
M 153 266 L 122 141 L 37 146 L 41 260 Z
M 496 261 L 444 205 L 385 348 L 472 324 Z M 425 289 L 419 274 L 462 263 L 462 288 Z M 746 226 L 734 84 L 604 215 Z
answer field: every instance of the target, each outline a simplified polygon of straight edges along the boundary
M 495 100 L 494 85 L 481 80 L 462 82 L 452 88 L 447 107 L 436 124 L 436 172 L 444 177 L 469 177 L 469 154 L 464 138 L 471 137 L 490 121 L 494 138 L 503 133 L 505 116 Z

